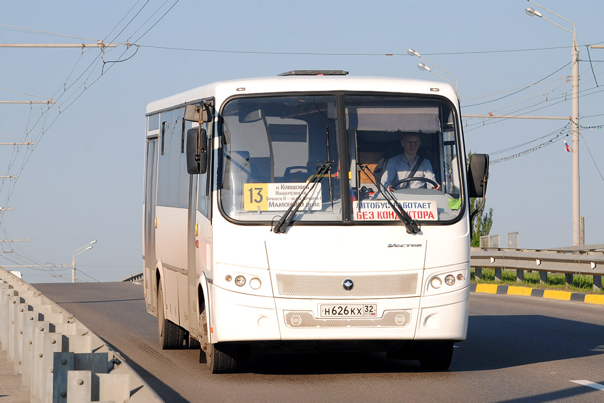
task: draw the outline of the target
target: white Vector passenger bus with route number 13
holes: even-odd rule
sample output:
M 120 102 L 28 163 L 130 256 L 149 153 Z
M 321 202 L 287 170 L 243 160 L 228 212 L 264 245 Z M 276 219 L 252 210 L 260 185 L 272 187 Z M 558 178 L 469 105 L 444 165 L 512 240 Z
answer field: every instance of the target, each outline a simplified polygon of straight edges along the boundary
M 162 348 L 201 344 L 210 372 L 254 349 L 449 367 L 467 330 L 469 197 L 488 169 L 475 154 L 466 171 L 452 86 L 291 71 L 146 117 L 144 295 Z M 405 173 L 410 139 L 421 167 Z

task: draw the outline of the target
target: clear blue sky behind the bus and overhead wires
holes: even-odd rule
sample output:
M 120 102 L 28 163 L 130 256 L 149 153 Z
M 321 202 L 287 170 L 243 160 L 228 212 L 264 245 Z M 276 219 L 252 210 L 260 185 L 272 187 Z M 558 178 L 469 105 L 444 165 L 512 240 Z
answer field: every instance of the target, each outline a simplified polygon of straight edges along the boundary
M 417 68 L 421 60 L 406 55 L 408 48 L 414 48 L 457 76 L 463 114 L 571 114 L 571 85 L 565 78 L 571 66 L 565 65 L 571 61 L 572 35 L 525 15 L 525 7 L 537 7 L 524 0 L 180 0 L 144 34 L 174 2 L 37 0 L 2 7 L 0 24 L 92 41 L 2 26 L 0 43 L 71 44 L 104 39 L 146 46 L 136 54 L 136 47 L 107 49 L 105 62 L 132 57 L 106 63 L 103 76 L 100 51 L 94 48 L 83 54 L 78 48 L 0 48 L 0 100 L 42 99 L 5 89 L 57 100 L 43 115 L 46 106 L 0 104 L 0 142 L 23 141 L 25 134 L 25 141 L 36 142 L 33 151 L 0 146 L 0 175 L 19 175 L 16 181 L 5 179 L 0 187 L 0 205 L 14 208 L 0 213 L 0 238 L 29 239 L 2 243 L 5 253 L 0 265 L 69 264 L 74 250 L 97 239 L 94 249 L 76 258 L 82 272 L 95 280 L 114 281 L 140 271 L 146 105 L 205 83 L 275 76 L 291 69 L 345 69 L 352 75 L 437 79 Z M 604 63 L 595 61 L 604 60 L 604 49 L 590 49 L 592 71 L 583 46 L 604 42 L 604 3 L 541 0 L 539 4 L 576 24 L 582 60 L 580 124 L 604 124 L 604 92 L 596 88 L 596 80 L 604 85 Z M 555 16 L 550 18 L 572 30 Z M 550 74 L 541 85 L 516 94 L 510 91 Z M 493 101 L 499 97 L 504 98 Z M 467 119 L 466 148 L 490 153 L 491 160 L 496 160 L 550 140 L 564 131 L 566 123 L 510 119 L 483 124 Z M 604 243 L 604 180 L 597 170 L 604 174 L 604 129 L 581 132 L 585 242 Z M 570 144 L 570 137 L 565 140 Z M 522 143 L 527 144 L 518 146 Z M 518 147 L 495 153 L 514 146 Z M 487 208 L 494 211 L 492 234 L 500 233 L 505 239 L 508 232 L 519 231 L 521 247 L 571 245 L 571 155 L 564 149 L 564 140 L 493 164 Z M 71 281 L 71 268 L 21 271 L 32 283 Z M 92 280 L 82 273 L 78 276 Z

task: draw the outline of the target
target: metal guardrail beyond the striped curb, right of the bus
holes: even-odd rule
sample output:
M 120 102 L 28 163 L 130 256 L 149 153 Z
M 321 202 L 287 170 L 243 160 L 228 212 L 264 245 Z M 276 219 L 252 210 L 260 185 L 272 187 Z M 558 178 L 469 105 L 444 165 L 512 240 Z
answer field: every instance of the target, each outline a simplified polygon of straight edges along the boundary
M 567 283 L 572 282 L 573 274 L 588 274 L 594 276 L 594 291 L 601 291 L 604 251 L 589 246 L 556 250 L 472 248 L 470 266 L 475 268 L 477 278 L 481 277 L 482 268 L 494 268 L 495 280 L 501 280 L 502 269 L 516 269 L 517 281 L 524 279 L 525 270 L 539 271 L 542 282 L 547 280 L 548 272 L 567 274 Z

